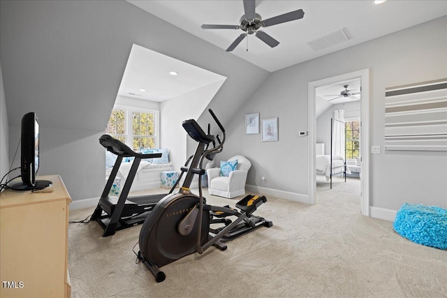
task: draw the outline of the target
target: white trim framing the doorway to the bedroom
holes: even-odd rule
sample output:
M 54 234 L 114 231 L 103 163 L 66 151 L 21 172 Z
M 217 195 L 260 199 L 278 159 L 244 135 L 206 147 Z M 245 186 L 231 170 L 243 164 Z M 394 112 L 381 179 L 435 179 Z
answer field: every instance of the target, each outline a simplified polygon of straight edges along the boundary
M 361 212 L 369 216 L 369 68 L 358 70 L 353 73 L 345 73 L 323 80 L 309 82 L 308 84 L 308 119 L 309 119 L 309 203 L 316 203 L 316 168 L 315 168 L 315 145 L 316 145 L 316 111 L 315 111 L 315 89 L 328 84 L 335 84 L 346 80 L 360 78 L 361 100 L 360 100 L 360 155 L 362 156 L 361 179 Z

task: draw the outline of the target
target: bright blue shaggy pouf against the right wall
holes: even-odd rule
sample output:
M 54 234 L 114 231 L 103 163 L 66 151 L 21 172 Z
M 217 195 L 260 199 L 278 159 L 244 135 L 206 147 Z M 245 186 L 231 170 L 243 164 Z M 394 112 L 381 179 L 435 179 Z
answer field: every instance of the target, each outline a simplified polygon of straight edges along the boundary
M 403 204 L 394 230 L 418 244 L 447 249 L 447 210 L 423 204 Z

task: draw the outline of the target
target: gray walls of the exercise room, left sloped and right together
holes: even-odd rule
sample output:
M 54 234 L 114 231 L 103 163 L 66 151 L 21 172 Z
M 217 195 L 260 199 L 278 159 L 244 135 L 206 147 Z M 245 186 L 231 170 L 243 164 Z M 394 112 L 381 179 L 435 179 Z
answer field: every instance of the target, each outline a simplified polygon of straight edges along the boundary
M 74 200 L 97 197 L 105 159 L 97 139 L 137 43 L 227 77 L 209 105 L 227 130 L 218 158 L 244 154 L 253 163 L 248 184 L 309 195 L 308 138 L 298 137 L 308 130 L 308 82 L 369 68 L 369 142 L 383 149 L 385 88 L 447 77 L 446 27 L 447 17 L 441 17 L 269 76 L 125 1 L 1 1 L 9 156 L 22 115 L 34 110 L 42 127 L 40 174 L 61 174 Z M 244 115 L 251 112 L 279 117 L 279 142 L 245 135 Z M 212 119 L 203 113 L 199 123 L 207 122 Z M 373 207 L 447 206 L 445 153 L 387 151 L 369 158 Z

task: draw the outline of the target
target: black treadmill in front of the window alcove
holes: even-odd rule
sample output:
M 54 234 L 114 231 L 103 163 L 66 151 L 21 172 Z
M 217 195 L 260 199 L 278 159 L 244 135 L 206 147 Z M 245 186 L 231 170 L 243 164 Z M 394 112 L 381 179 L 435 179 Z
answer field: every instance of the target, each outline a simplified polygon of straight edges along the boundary
M 105 147 L 112 154 L 117 155 L 117 161 L 113 165 L 110 177 L 105 184 L 105 188 L 98 206 L 91 215 L 90 221 L 97 221 L 101 228 L 103 228 L 103 237 L 115 234 L 117 230 L 133 227 L 144 223 L 150 211 L 154 209 L 156 203 L 166 196 L 166 193 L 156 195 L 140 195 L 135 197 L 128 197 L 129 191 L 138 170 L 140 161 L 144 158 L 159 158 L 161 153 L 157 154 L 139 154 L 129 148 L 123 142 L 115 139 L 110 135 L 102 135 L 99 138 L 99 143 Z M 126 182 L 122 188 L 119 197 L 110 196 L 110 188 L 112 188 L 113 181 L 117 176 L 119 165 L 121 165 L 123 158 L 133 157 L 131 170 L 126 178 Z M 177 184 L 176 184 L 177 185 Z M 173 192 L 175 186 L 169 193 Z

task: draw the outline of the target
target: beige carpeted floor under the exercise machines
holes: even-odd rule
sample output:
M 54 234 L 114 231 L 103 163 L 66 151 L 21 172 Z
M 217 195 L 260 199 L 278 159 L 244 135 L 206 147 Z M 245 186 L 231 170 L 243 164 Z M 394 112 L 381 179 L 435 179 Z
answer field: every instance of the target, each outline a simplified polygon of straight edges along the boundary
M 211 204 L 237 202 L 204 195 Z M 268 197 L 256 214 L 272 228 L 228 242 L 226 251 L 211 247 L 161 267 L 162 283 L 135 264 L 141 225 L 103 238 L 96 222 L 71 224 L 72 297 L 447 297 L 447 251 L 360 215 L 360 180 L 338 179 L 330 190 L 317 179 L 316 200 Z M 93 209 L 71 211 L 70 220 Z

